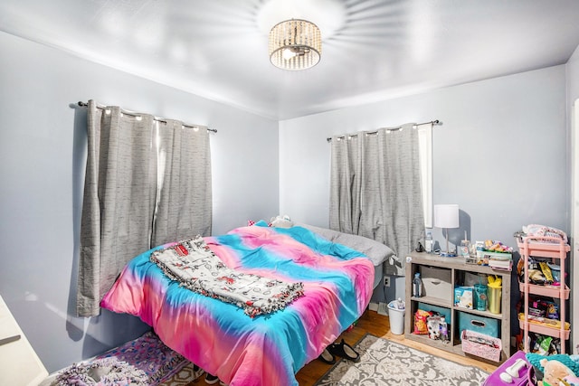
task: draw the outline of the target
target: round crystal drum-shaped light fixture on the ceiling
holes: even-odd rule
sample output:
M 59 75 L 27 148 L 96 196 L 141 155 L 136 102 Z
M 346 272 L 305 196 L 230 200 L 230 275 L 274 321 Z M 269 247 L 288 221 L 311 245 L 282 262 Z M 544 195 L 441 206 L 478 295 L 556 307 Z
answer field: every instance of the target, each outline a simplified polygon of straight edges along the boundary
M 270 31 L 270 61 L 283 70 L 306 70 L 318 64 L 322 37 L 316 24 L 291 19 L 276 24 Z

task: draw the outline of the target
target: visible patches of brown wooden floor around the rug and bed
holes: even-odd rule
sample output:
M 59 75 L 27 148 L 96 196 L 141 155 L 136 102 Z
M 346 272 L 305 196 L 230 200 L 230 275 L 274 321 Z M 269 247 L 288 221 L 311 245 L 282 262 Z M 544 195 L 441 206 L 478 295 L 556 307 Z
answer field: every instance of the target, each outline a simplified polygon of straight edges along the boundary
M 366 333 L 384 337 L 399 344 L 405 344 L 424 353 L 431 353 L 433 355 L 438 355 L 454 362 L 476 366 L 485 372 L 493 372 L 497 368 L 497 366 L 486 362 L 475 361 L 455 353 L 448 353 L 431 346 L 426 346 L 424 344 L 406 340 L 404 339 L 403 335 L 394 335 L 390 332 L 390 322 L 388 316 L 380 315 L 375 311 L 366 311 L 365 314 L 362 315 L 362 317 L 357 321 L 354 329 L 340 335 L 337 340 L 339 341 L 343 338 L 347 344 L 354 345 Z M 296 379 L 299 381 L 299 386 L 312 386 L 329 370 L 330 367 L 330 364 L 319 361 L 317 359 L 309 362 L 296 374 Z M 198 383 L 195 383 L 199 385 L 206 384 L 204 377 L 199 380 Z

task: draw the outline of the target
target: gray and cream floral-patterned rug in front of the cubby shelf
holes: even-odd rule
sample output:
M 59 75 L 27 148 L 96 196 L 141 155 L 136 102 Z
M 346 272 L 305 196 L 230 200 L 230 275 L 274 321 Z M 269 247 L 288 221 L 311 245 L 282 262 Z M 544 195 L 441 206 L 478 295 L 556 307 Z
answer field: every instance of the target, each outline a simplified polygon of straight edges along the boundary
M 315 386 L 479 386 L 487 372 L 372 334 L 355 345 L 360 362 L 338 361 Z

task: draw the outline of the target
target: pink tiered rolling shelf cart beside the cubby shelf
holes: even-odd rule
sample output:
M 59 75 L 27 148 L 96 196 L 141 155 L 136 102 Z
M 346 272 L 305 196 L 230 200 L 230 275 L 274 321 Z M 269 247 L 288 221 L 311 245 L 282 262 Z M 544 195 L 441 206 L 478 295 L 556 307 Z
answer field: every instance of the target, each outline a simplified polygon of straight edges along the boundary
M 561 353 L 565 353 L 565 341 L 569 339 L 570 325 L 565 323 L 565 300 L 569 298 L 570 289 L 565 285 L 565 259 L 570 247 L 564 240 L 555 237 L 523 237 L 517 239 L 518 251 L 521 259 L 524 260 L 524 272 L 528 272 L 528 258 L 547 258 L 556 261 L 561 266 L 561 284 L 559 286 L 536 286 L 529 283 L 528 275 L 525 274 L 525 281 L 519 282 L 519 289 L 525 298 L 524 317 L 519 317 L 519 325 L 523 330 L 523 342 L 525 352 L 529 352 L 528 333 L 544 334 L 561 339 Z M 546 318 L 536 319 L 528 315 L 528 296 L 540 295 L 544 297 L 555 297 L 560 300 L 559 317 L 560 320 L 553 321 Z M 521 313 L 522 314 L 522 313 Z

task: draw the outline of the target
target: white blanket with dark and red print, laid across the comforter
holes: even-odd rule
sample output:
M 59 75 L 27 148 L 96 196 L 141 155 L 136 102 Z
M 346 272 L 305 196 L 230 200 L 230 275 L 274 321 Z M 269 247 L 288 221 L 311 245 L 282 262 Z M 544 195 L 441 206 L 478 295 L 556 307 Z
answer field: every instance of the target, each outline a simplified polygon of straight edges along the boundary
M 181 286 L 239 306 L 250 317 L 278 311 L 303 296 L 303 283 L 227 268 L 201 236 L 157 249 L 150 259 Z

